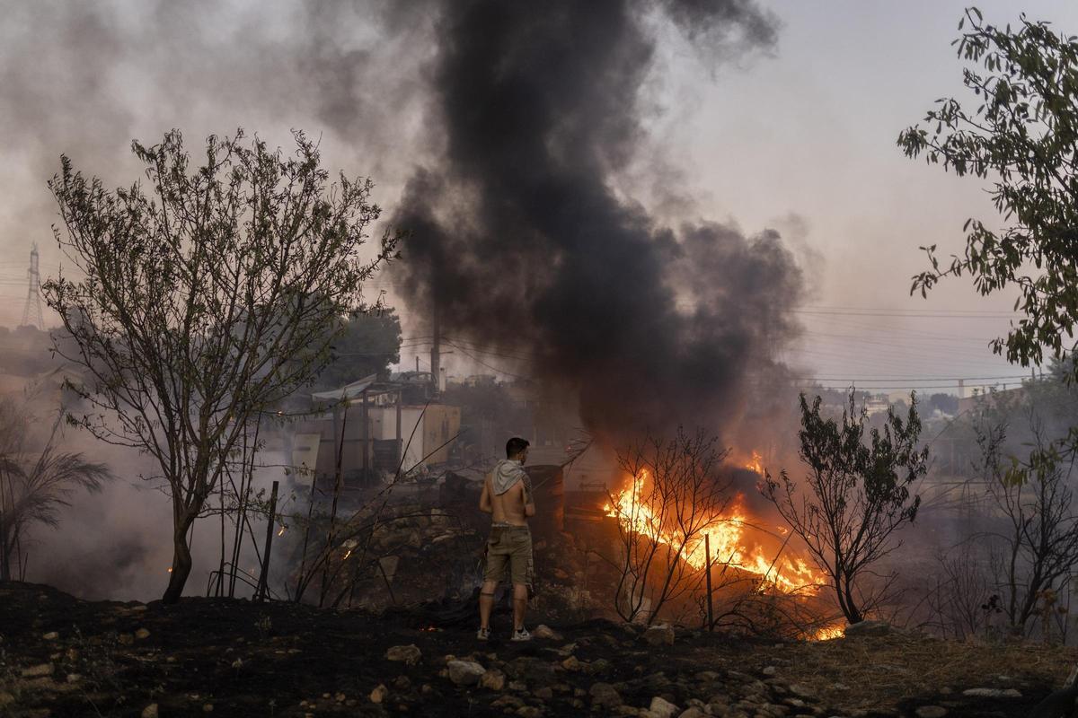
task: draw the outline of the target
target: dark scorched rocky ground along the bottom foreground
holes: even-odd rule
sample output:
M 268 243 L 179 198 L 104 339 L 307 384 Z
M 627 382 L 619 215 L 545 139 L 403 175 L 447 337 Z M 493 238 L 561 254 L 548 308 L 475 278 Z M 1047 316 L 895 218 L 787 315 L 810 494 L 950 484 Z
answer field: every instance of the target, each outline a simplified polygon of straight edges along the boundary
M 946 716 L 1017 718 L 1076 660 L 1072 649 L 898 632 L 775 644 L 677 630 L 667 645 L 608 621 L 555 624 L 556 638 L 514 644 L 502 635 L 505 615 L 481 644 L 462 613 L 451 615 L 430 606 L 374 616 L 216 599 L 85 602 L 46 586 L 0 583 L 0 716 L 652 715 L 640 708 L 657 696 L 678 706 L 675 716 L 693 705 L 736 716 L 756 691 L 780 703 L 779 715 L 914 716 L 934 705 Z M 390 647 L 407 645 L 419 651 L 414 665 L 387 659 Z M 446 657 L 505 681 L 458 685 Z M 600 699 L 610 691 L 598 684 L 621 704 Z

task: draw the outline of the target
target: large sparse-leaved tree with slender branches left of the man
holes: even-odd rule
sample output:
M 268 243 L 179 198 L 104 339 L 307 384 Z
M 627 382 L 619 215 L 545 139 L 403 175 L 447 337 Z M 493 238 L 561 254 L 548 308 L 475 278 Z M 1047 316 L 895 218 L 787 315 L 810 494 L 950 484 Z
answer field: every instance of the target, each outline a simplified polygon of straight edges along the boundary
M 183 591 L 191 527 L 252 419 L 326 365 L 327 327 L 362 306 L 363 281 L 397 241 L 387 233 L 373 258 L 359 256 L 381 212 L 373 185 L 331 184 L 302 132 L 288 158 L 241 139 L 210 137 L 194 169 L 178 130 L 134 142 L 148 192 L 108 192 L 67 157 L 49 183 L 66 228 L 56 240 L 78 269 L 43 286 L 74 346 L 57 351 L 83 371 L 70 386 L 87 408 L 70 420 L 156 460 L 172 503 L 166 603 Z

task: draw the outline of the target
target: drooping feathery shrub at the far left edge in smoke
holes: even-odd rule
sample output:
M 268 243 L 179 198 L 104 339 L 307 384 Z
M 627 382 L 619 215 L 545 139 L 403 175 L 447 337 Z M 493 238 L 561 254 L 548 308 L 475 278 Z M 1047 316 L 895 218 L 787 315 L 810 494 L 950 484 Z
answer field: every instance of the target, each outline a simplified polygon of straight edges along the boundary
M 0 398 L 0 580 L 10 581 L 16 564 L 17 577 L 24 578 L 20 549 L 30 526 L 56 527 L 59 509 L 70 506 L 77 491 L 100 491 L 111 477 L 105 464 L 56 450 L 61 416 L 44 446 L 31 450 L 27 430 L 33 419 L 28 407 Z

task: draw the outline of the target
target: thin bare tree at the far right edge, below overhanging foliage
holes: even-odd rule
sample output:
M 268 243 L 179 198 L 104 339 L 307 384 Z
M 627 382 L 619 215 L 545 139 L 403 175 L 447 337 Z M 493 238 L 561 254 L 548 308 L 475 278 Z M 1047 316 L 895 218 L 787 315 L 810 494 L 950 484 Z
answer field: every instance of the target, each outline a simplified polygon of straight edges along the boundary
M 1005 527 L 992 533 L 999 605 L 1011 631 L 1023 635 L 1065 588 L 1078 563 L 1078 515 L 1070 488 L 1075 456 L 1056 454 L 1056 460 L 1046 461 L 1050 442 L 1044 424 L 1032 408 L 1027 417 L 1039 460 L 1006 454 L 1006 418 L 975 425 L 981 449 L 978 469 L 1006 519 Z M 1047 635 L 1047 621 L 1042 628 Z

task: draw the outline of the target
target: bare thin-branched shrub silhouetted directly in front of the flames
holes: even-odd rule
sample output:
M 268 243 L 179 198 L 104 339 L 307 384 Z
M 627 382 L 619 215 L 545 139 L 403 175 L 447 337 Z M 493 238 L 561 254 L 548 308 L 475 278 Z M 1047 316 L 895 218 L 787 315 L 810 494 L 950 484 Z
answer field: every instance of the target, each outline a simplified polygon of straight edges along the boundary
M 665 441 L 648 436 L 618 453 L 632 485 L 610 496 L 618 518 L 614 609 L 626 621 L 654 621 L 663 605 L 694 588 L 703 575 L 704 535 L 727 522 L 730 479 L 719 469 L 729 450 L 702 431 L 678 430 Z

